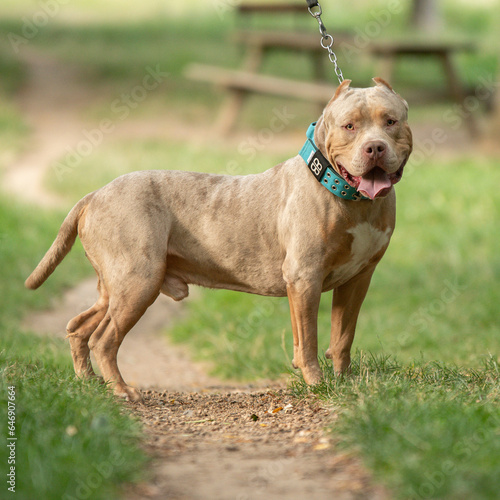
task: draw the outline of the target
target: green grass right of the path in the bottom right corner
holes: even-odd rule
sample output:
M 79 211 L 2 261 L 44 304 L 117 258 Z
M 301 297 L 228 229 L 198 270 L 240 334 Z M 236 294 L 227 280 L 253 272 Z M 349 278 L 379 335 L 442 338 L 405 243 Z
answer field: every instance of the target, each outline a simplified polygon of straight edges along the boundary
M 294 394 L 335 408 L 337 446 L 361 456 L 394 498 L 498 498 L 497 360 L 472 370 L 358 352 L 352 376 L 335 377 L 330 363 L 324 372 L 312 389 L 297 379 Z

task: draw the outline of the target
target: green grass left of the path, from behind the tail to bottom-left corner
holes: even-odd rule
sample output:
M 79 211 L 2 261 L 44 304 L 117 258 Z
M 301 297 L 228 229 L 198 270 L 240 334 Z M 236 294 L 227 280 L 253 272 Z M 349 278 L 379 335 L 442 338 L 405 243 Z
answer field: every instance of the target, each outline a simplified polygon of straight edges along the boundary
M 75 378 L 66 342 L 19 326 L 26 313 L 47 307 L 50 298 L 88 273 L 77 250 L 41 290 L 23 288 L 60 221 L 60 215 L 34 213 L 5 195 L 0 201 L 0 460 L 6 467 L 7 388 L 15 386 L 15 496 L 116 498 L 118 485 L 137 480 L 145 463 L 139 424 L 105 386 Z M 2 498 L 3 492 L 5 483 Z

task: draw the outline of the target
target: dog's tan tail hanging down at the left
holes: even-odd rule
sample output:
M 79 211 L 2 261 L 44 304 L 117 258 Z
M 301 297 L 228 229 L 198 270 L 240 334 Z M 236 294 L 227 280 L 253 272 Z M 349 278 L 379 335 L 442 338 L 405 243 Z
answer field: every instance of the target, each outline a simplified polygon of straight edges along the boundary
M 93 196 L 94 193 L 88 194 L 71 209 L 61 224 L 54 243 L 52 243 L 38 266 L 36 266 L 35 270 L 24 282 L 26 288 L 36 290 L 54 272 L 54 269 L 62 262 L 64 257 L 68 255 L 78 234 L 78 221 L 82 211 L 89 204 Z

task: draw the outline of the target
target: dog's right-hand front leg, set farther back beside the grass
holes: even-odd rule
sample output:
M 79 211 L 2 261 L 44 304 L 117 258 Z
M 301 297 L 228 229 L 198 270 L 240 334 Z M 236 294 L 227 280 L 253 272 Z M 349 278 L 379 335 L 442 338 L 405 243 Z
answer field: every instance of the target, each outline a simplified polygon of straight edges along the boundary
M 325 356 L 333 360 L 337 375 L 350 371 L 356 322 L 374 270 L 375 266 L 367 268 L 333 290 L 332 331 Z

